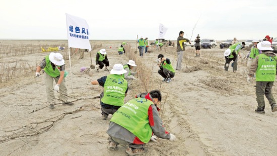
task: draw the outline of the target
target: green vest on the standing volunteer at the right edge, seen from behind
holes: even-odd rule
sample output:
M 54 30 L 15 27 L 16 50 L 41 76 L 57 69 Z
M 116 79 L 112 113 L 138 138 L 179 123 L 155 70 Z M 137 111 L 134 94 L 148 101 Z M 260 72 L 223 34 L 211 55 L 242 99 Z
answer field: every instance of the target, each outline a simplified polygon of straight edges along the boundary
M 258 58 L 258 68 L 256 71 L 256 81 L 273 82 L 276 74 L 277 57 L 260 54 Z

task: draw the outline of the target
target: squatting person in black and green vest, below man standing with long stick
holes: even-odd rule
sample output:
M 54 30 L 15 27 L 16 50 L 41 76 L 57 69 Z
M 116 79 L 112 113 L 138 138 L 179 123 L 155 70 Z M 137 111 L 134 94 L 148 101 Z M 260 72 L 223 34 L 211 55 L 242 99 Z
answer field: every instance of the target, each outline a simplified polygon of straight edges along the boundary
M 169 83 L 171 81 L 171 78 L 175 76 L 175 70 L 170 62 L 170 59 L 164 58 L 163 54 L 159 54 L 157 63 L 158 63 L 158 66 L 160 67 L 160 70 L 158 70 L 158 73 L 164 78 L 163 81 L 166 81 L 166 83 Z

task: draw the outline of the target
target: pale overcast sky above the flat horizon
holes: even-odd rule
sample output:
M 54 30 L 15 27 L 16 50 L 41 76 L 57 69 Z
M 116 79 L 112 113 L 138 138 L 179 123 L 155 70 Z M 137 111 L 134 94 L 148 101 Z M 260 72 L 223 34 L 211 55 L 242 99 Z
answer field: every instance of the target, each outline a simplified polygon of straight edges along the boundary
M 0 5 L 0 39 L 67 39 L 65 13 L 83 18 L 91 40 L 158 37 L 159 24 L 176 40 L 179 31 L 192 39 L 225 40 L 277 37 L 277 1 L 114 1 L 6 0 Z

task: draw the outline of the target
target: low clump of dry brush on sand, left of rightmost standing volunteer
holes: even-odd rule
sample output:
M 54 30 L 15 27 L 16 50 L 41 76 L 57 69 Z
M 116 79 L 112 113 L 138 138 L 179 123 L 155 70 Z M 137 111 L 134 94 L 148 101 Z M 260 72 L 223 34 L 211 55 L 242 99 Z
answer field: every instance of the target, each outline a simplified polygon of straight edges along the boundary
M 203 84 L 215 88 L 217 90 L 225 90 L 232 92 L 233 88 L 230 81 L 227 78 L 211 77 L 210 79 L 200 80 Z

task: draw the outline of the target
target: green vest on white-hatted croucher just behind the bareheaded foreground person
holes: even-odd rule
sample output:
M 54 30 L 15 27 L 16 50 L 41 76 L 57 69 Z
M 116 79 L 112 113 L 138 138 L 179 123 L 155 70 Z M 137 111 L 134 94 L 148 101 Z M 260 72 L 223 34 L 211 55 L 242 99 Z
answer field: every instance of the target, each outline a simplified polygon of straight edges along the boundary
M 104 84 L 104 96 L 101 101 L 113 106 L 122 106 L 127 86 L 128 83 L 122 75 L 108 75 Z

